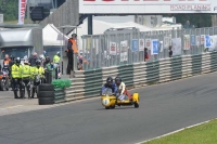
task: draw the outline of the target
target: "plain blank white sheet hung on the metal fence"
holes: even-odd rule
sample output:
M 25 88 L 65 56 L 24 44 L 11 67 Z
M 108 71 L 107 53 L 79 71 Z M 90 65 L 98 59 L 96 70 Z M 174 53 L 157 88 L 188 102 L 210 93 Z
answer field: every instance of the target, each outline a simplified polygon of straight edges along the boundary
M 173 55 L 181 54 L 181 38 L 171 39 Z

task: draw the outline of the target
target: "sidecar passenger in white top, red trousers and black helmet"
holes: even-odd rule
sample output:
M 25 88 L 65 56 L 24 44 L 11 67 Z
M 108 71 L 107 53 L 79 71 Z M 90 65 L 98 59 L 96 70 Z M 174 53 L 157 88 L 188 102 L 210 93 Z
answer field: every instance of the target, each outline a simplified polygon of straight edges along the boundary
M 116 77 L 116 78 L 115 78 L 115 84 L 117 86 L 120 95 L 122 95 L 122 94 L 125 94 L 125 95 L 128 96 L 129 100 L 132 100 L 130 93 L 129 93 L 129 92 L 127 91 L 127 89 L 126 89 L 126 84 L 122 81 L 122 78 L 120 78 L 120 77 Z

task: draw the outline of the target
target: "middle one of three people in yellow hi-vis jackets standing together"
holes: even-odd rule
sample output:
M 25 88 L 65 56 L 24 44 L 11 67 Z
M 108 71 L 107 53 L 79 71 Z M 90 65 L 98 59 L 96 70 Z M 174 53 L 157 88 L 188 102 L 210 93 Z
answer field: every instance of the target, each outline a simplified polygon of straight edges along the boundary
M 29 66 L 28 60 L 24 61 L 24 65 L 21 67 L 22 76 L 22 99 L 25 99 L 25 89 L 27 90 L 28 99 L 30 99 L 30 76 L 31 67 Z

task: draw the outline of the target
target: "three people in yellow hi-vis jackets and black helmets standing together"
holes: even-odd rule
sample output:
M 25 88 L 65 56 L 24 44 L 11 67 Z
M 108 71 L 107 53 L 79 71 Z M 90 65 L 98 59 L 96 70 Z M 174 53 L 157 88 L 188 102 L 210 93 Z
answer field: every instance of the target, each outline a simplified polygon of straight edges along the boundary
M 34 99 L 36 87 L 40 83 L 40 81 L 36 81 L 36 77 L 38 76 L 41 80 L 44 80 L 44 69 L 41 66 L 40 60 L 36 60 L 36 62 L 34 62 L 36 65 L 33 66 L 29 62 L 28 60 L 24 60 L 24 65 L 21 65 L 21 58 L 17 57 L 15 64 L 11 67 L 14 99 L 25 99 L 25 90 L 27 91 L 28 99 Z M 30 90 L 31 84 L 34 87 Z M 20 96 L 17 91 L 20 91 Z

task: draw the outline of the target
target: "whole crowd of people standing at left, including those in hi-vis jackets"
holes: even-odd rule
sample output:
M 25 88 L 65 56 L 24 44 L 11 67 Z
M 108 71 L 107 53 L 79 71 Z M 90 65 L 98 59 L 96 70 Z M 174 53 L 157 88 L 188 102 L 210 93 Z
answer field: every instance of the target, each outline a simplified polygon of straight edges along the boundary
M 27 91 L 28 99 L 34 99 L 36 87 L 41 81 L 46 82 L 44 71 L 52 73 L 54 65 L 60 63 L 60 52 L 58 52 L 51 61 L 49 56 L 46 56 L 46 51 L 39 57 L 34 52 L 29 58 L 27 56 L 24 57 L 24 64 L 22 65 L 21 57 L 15 58 L 13 55 L 9 57 L 5 54 L 3 65 L 0 65 L 0 71 L 8 73 L 8 81 L 11 81 L 14 99 L 25 99 L 25 91 Z M 40 80 L 38 81 L 38 79 Z M 17 91 L 20 91 L 20 96 Z

